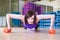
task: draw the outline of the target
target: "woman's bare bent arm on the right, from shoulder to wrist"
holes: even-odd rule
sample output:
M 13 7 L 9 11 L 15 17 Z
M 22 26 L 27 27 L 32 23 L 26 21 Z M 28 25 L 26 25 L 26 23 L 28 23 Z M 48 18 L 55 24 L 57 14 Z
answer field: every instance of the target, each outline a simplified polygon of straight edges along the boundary
M 53 14 L 37 15 L 37 22 L 41 19 L 51 19 L 50 29 L 52 29 L 55 21 L 55 15 Z

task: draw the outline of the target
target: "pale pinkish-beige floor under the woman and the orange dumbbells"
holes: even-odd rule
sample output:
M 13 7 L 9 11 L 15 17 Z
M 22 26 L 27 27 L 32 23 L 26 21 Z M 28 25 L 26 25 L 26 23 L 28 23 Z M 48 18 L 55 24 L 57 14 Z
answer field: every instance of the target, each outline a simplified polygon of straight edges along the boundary
M 60 29 L 56 29 L 56 34 L 51 35 L 46 28 L 35 32 L 34 29 L 15 27 L 11 33 L 4 33 L 3 28 L 0 28 L 0 40 L 60 40 Z

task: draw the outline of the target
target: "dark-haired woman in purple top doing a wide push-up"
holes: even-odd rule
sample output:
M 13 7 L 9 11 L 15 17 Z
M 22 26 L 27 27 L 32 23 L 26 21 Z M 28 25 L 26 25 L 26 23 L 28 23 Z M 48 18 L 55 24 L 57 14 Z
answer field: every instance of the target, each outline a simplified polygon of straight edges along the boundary
M 38 21 L 41 19 L 51 19 L 50 29 L 52 29 L 53 24 L 54 24 L 55 15 L 53 15 L 53 14 L 36 15 L 33 10 L 30 10 L 26 13 L 26 15 L 7 14 L 6 18 L 7 18 L 8 29 L 10 29 L 10 18 L 14 18 L 14 19 L 22 20 L 25 29 L 35 28 L 35 30 L 37 30 Z

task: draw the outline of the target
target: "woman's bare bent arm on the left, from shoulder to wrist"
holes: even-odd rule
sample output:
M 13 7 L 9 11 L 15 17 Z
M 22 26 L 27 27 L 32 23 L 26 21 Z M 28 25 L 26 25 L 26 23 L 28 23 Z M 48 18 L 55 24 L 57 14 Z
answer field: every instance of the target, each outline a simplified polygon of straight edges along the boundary
M 24 21 L 24 15 L 17 15 L 17 14 L 6 14 L 6 19 L 7 19 L 7 26 L 10 29 L 10 18 L 14 18 L 14 19 L 20 19 L 22 21 Z

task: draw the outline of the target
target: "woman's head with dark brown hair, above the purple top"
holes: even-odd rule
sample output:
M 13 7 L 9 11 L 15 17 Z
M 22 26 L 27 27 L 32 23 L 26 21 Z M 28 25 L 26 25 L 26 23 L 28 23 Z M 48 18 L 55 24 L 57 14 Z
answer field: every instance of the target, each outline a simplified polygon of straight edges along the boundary
M 25 23 L 36 23 L 36 14 L 33 10 L 29 10 L 25 15 Z

